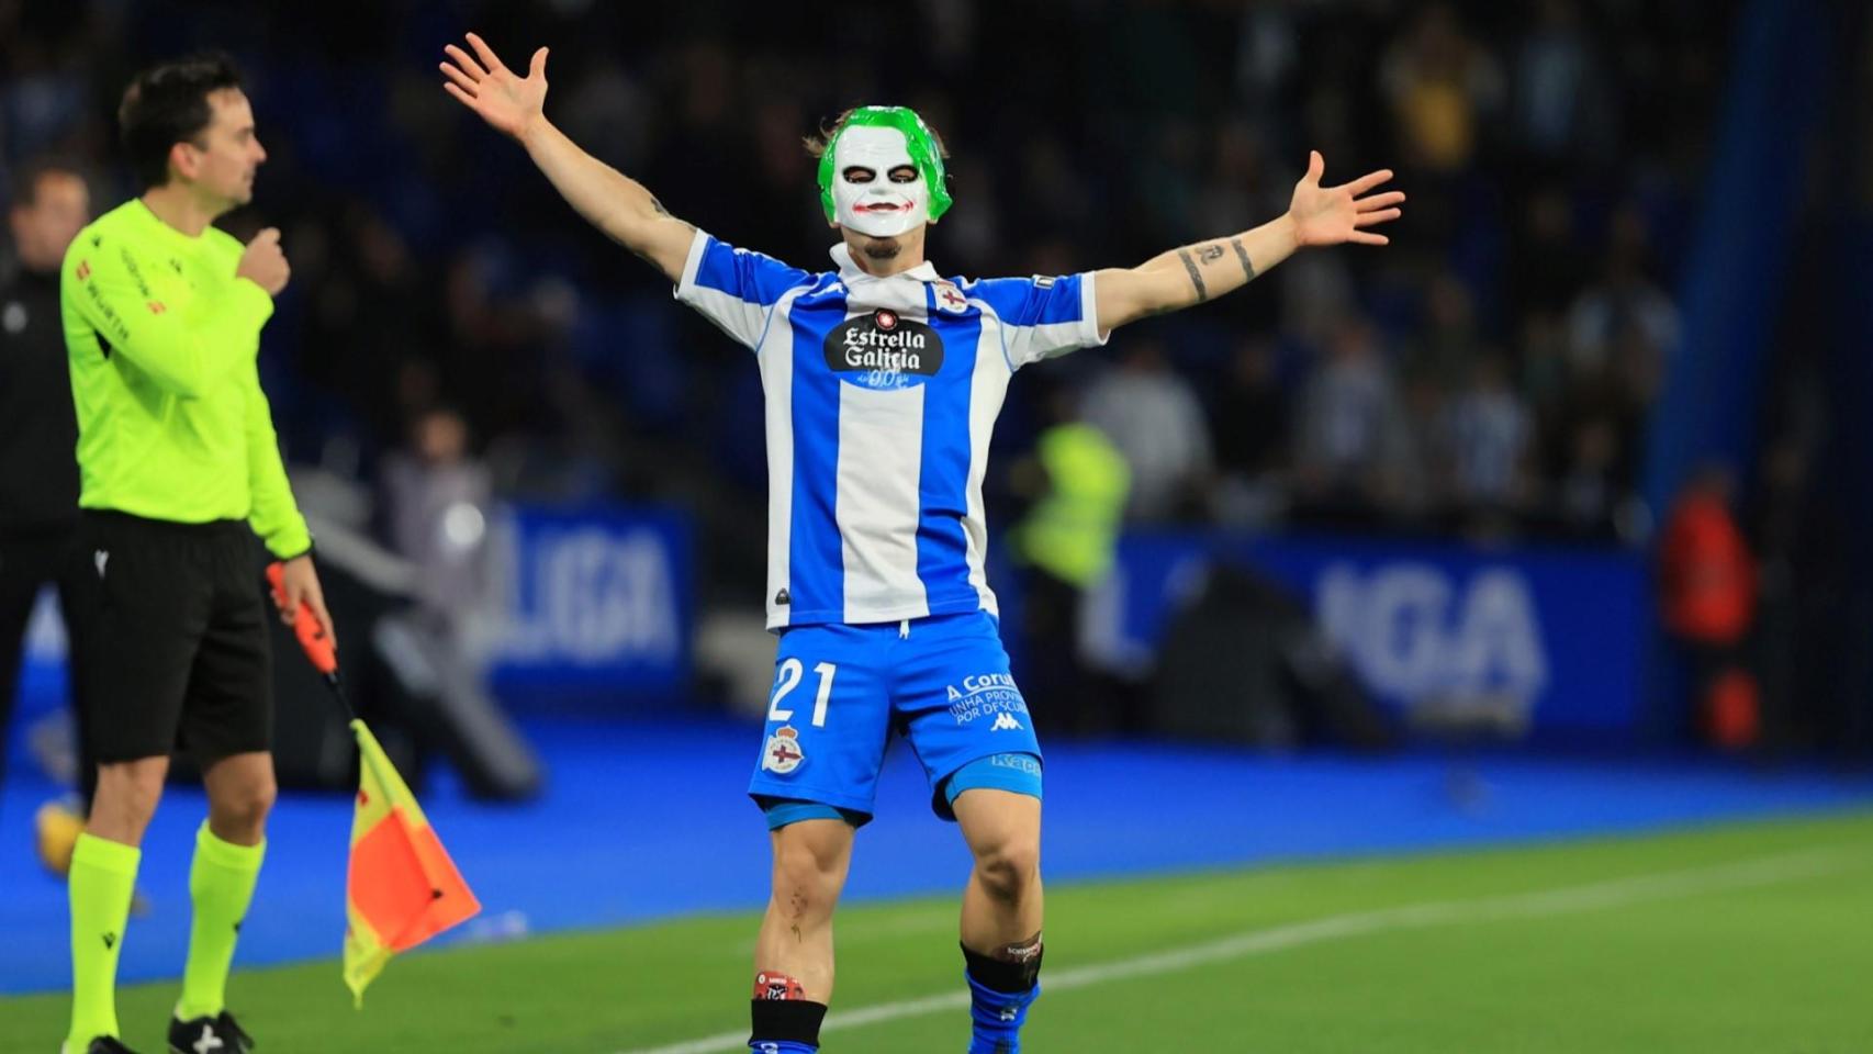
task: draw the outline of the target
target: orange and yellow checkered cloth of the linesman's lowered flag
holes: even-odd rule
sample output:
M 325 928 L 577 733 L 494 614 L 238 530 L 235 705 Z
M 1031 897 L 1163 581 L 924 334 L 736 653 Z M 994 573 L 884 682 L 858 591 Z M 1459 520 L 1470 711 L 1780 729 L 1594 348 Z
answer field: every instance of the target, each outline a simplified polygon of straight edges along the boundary
M 390 957 L 474 917 L 474 899 L 416 796 L 363 721 L 358 736 L 358 809 L 345 884 L 345 985 L 358 1005 Z

